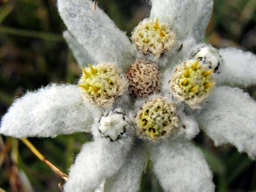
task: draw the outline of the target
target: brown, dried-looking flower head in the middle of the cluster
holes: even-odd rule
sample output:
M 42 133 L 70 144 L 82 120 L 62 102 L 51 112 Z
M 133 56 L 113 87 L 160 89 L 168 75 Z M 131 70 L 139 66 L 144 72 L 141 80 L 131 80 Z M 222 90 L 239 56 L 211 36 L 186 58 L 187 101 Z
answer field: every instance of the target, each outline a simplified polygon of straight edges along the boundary
M 160 73 L 157 65 L 150 61 L 136 60 L 126 73 L 129 91 L 135 97 L 146 98 L 160 91 Z

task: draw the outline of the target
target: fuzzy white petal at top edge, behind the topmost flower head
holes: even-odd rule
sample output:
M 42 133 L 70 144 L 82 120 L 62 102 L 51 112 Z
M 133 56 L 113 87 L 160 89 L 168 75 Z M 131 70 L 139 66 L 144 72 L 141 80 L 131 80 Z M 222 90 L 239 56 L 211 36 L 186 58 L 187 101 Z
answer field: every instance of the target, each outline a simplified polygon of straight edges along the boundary
M 151 0 L 151 18 L 159 18 L 159 22 L 170 25 L 178 38 L 194 36 L 200 40 L 208 25 L 212 0 Z

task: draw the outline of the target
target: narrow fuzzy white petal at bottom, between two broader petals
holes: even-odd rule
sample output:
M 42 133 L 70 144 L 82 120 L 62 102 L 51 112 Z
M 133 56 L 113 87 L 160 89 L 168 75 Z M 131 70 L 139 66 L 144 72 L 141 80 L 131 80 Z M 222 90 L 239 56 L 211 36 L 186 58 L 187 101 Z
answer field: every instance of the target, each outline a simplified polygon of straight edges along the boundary
M 135 192 L 139 190 L 143 169 L 147 162 L 141 143 L 134 145 L 122 168 L 105 184 L 105 192 Z

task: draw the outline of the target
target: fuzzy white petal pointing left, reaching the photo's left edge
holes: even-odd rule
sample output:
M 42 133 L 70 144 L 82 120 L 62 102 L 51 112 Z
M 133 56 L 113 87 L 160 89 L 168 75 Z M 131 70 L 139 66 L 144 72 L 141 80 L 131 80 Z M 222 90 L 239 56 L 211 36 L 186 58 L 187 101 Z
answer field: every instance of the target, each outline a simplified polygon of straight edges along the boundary
M 51 84 L 16 99 L 2 119 L 0 133 L 22 138 L 90 132 L 93 114 L 98 111 L 84 104 L 77 86 Z

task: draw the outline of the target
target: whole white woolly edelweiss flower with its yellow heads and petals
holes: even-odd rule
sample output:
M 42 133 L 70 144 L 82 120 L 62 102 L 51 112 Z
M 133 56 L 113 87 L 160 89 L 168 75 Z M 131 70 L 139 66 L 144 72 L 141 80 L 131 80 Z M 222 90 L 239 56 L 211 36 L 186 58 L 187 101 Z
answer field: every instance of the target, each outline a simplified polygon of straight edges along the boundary
M 148 159 L 165 191 L 214 191 L 209 167 L 190 141 L 199 132 L 196 118 L 216 145 L 231 143 L 255 157 L 256 103 L 238 88 L 221 86 L 255 84 L 256 57 L 197 45 L 212 4 L 152 0 L 150 18 L 135 28 L 132 44 L 103 11 L 92 10 L 93 2 L 59 0 L 78 63 L 96 65 L 82 68 L 80 88 L 51 84 L 17 99 L 0 133 L 91 132 L 94 141 L 82 146 L 66 192 L 100 184 L 105 191 L 137 191 Z

